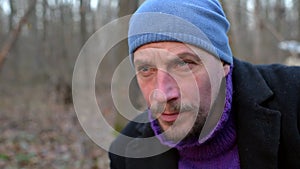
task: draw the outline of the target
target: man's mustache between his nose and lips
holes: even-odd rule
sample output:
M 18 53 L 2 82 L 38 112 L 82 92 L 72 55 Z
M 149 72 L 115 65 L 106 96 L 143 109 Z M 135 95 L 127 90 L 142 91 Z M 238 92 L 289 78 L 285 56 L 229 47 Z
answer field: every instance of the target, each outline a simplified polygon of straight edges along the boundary
M 164 111 L 169 112 L 197 112 L 199 109 L 199 106 L 189 104 L 189 103 L 181 103 L 181 102 L 170 102 L 170 103 L 159 103 L 159 102 L 153 102 L 150 106 L 150 110 L 154 114 L 159 114 Z

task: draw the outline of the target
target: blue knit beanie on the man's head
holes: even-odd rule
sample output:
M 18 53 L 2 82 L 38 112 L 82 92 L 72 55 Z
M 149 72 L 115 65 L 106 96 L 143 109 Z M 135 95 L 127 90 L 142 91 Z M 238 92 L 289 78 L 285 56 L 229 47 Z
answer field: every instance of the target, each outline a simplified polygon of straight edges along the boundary
M 197 46 L 232 64 L 229 22 L 217 0 L 146 0 L 129 23 L 134 51 L 148 43 L 174 41 Z

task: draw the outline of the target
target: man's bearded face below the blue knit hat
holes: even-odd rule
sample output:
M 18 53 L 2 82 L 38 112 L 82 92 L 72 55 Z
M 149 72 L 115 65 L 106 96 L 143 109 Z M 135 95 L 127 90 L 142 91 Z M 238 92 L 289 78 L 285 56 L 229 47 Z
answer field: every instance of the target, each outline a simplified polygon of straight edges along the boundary
M 134 65 L 143 96 L 166 138 L 179 141 L 199 134 L 215 100 L 211 84 L 219 83 L 223 70 L 228 73 L 221 62 L 190 45 L 157 42 L 136 50 Z M 217 66 L 222 67 L 221 76 Z

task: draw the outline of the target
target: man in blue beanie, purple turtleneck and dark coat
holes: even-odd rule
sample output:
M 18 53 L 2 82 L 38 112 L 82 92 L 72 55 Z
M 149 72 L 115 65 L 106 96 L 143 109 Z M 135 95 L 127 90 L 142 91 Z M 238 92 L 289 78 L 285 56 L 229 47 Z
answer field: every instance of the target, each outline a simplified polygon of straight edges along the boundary
M 148 0 L 129 52 L 148 105 L 112 169 L 300 168 L 300 68 L 232 57 L 217 0 Z

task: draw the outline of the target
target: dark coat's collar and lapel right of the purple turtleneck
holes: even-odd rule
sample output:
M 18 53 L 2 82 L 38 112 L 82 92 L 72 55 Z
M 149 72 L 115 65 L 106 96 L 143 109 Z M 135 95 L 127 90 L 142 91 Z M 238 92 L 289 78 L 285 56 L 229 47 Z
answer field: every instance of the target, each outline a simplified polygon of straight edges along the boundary
M 273 92 L 253 65 L 234 59 L 233 112 L 242 169 L 276 168 L 281 113 L 264 105 Z

